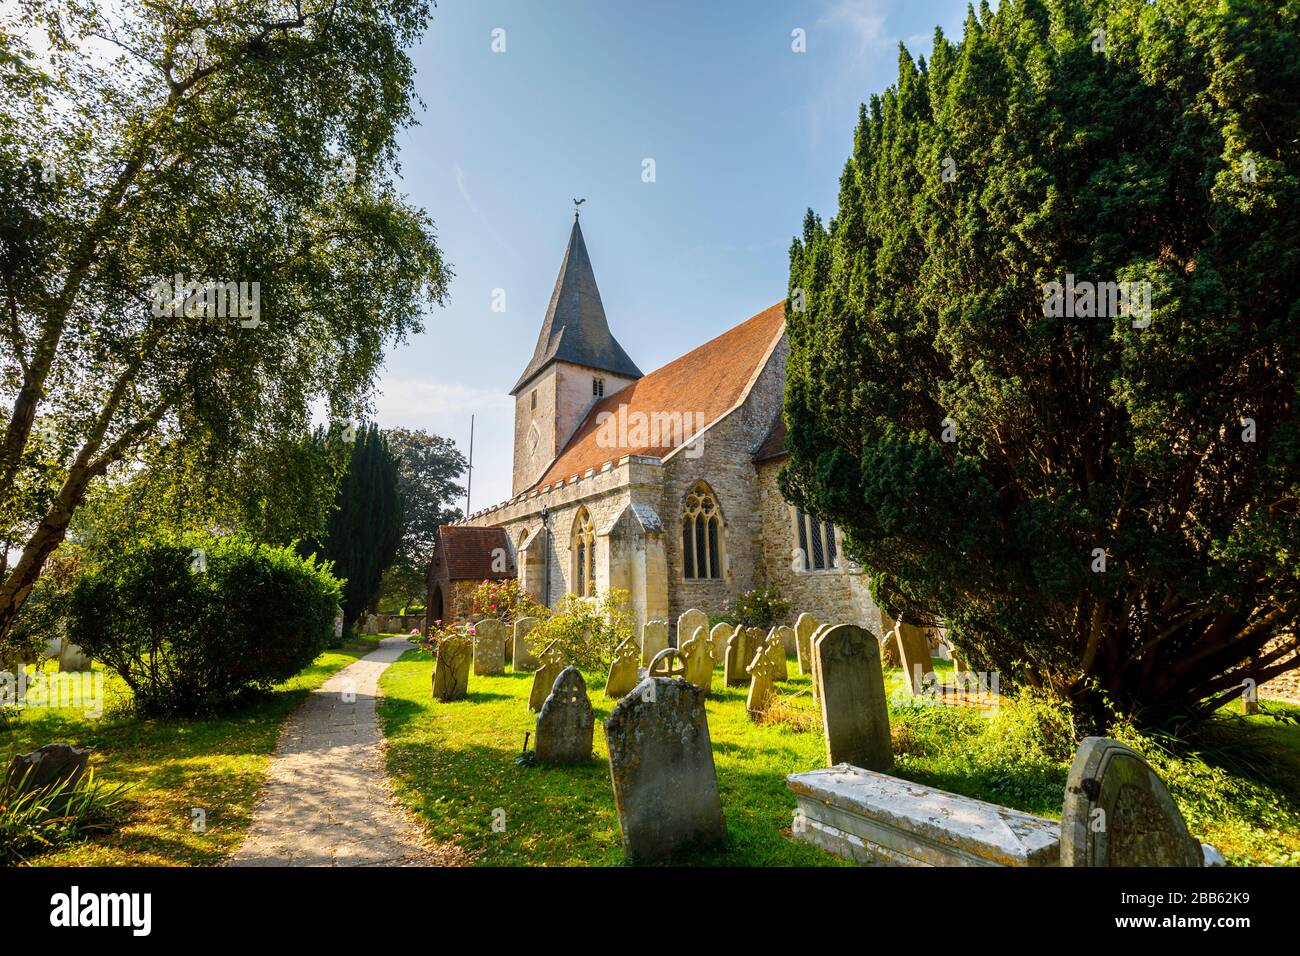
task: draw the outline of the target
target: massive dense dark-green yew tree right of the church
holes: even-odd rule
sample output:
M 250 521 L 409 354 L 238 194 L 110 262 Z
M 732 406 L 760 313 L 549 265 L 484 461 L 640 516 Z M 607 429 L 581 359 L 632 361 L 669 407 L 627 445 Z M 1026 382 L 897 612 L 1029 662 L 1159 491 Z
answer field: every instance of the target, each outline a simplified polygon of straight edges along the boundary
M 982 7 L 902 51 L 792 246 L 784 493 L 1096 723 L 1294 665 L 1297 88 L 1296 0 Z M 1150 310 L 1060 316 L 1075 280 Z

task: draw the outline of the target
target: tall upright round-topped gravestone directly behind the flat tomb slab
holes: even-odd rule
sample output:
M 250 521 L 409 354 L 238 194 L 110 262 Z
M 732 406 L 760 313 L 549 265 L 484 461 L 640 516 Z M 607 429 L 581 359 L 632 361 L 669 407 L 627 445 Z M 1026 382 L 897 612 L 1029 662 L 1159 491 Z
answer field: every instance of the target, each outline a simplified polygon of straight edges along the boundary
M 888 770 L 893 750 L 880 643 L 857 624 L 836 624 L 818 635 L 812 653 L 818 657 L 827 763 Z

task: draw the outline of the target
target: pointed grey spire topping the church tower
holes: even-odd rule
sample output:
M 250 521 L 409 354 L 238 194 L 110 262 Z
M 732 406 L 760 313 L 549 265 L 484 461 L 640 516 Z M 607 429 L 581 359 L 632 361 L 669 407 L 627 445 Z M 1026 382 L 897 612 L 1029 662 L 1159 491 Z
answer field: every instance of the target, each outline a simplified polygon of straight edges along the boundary
M 571 362 L 629 378 L 640 378 L 642 375 L 610 333 L 577 215 L 573 216 L 573 232 L 569 233 L 569 245 L 564 250 L 564 261 L 555 280 L 555 291 L 551 293 L 551 304 L 546 310 L 546 321 L 537 337 L 533 359 L 510 394 L 519 393 L 552 362 Z

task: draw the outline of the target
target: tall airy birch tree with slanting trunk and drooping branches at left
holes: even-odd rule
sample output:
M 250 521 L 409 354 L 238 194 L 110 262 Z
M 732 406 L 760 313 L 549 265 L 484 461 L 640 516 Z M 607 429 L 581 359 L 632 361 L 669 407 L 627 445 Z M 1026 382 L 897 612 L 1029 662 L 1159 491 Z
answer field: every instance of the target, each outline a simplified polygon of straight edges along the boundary
M 448 271 L 391 182 L 428 4 L 68 5 L 0 29 L 0 657 L 92 483 L 361 411 Z

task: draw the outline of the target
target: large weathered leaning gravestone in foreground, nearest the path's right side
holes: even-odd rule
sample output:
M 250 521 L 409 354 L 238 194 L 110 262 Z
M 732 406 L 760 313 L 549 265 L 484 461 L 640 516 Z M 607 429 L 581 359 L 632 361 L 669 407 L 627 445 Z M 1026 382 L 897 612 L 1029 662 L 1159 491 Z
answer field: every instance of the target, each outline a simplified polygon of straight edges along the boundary
M 633 862 L 727 839 L 705 691 L 680 678 L 646 678 L 604 722 L 610 779 Z

